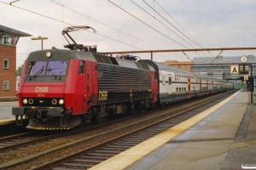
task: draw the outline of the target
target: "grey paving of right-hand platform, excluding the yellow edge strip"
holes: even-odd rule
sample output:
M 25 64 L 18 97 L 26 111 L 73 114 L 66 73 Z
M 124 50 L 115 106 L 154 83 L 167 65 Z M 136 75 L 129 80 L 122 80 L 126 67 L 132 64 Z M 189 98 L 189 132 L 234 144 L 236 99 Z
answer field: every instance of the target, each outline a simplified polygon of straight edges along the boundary
M 253 134 L 247 128 L 237 133 L 244 114 L 255 116 L 255 109 L 249 93 L 241 91 L 211 116 L 125 169 L 241 169 L 244 163 L 256 163 L 255 120 L 248 128 Z

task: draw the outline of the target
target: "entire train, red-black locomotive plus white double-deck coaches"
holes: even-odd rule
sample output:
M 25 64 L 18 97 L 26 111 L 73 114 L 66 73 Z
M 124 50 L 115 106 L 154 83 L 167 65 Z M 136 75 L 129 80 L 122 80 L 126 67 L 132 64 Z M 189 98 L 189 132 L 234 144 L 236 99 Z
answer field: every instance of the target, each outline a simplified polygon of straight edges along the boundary
M 29 54 L 17 94 L 20 106 L 12 109 L 16 124 L 25 116 L 27 128 L 69 129 L 233 88 L 232 82 L 148 59 L 115 58 L 77 44 L 67 48 L 72 50 Z

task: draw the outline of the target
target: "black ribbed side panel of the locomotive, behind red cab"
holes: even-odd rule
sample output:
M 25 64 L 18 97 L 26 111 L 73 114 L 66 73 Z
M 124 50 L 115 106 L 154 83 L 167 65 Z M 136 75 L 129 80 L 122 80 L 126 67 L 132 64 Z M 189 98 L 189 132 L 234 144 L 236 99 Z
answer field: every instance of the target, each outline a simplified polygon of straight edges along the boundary
M 99 100 L 99 104 L 150 98 L 151 76 L 149 70 L 99 62 L 97 70 L 99 92 L 108 92 L 108 98 Z

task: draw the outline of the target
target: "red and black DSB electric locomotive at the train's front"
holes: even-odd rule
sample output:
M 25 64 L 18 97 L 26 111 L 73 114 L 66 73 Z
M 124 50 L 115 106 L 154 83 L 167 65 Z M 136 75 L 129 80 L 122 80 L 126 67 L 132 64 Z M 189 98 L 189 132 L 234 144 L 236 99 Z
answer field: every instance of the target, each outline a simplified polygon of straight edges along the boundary
M 90 52 L 50 49 L 26 59 L 13 115 L 28 128 L 67 129 L 81 120 L 143 111 L 157 99 L 154 68 Z

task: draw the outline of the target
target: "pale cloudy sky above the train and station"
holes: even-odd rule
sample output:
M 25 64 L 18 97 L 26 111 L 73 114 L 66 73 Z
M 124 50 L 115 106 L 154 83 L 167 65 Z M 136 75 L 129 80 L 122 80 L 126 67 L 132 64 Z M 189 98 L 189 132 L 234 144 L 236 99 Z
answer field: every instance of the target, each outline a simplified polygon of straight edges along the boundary
M 256 1 L 253 0 L 0 0 L 0 25 L 48 37 L 44 49 L 68 42 L 68 26 L 96 30 L 71 32 L 79 44 L 97 45 L 98 52 L 187 48 L 256 47 Z M 41 49 L 41 41 L 20 37 L 17 67 Z M 67 49 L 69 50 L 69 49 Z M 216 57 L 220 51 L 161 53 L 154 60 L 189 61 Z M 224 51 L 224 57 L 256 55 L 256 50 Z M 136 54 L 150 59 L 150 54 Z M 188 58 L 189 57 L 189 58 Z M 211 60 L 209 60 L 211 61 Z

